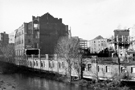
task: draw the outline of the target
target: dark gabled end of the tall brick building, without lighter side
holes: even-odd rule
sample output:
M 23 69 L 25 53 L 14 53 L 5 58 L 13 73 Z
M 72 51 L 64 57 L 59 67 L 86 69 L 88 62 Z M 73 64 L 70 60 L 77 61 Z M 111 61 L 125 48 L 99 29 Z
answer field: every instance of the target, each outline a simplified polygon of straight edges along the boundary
M 68 36 L 68 25 L 49 13 L 32 19 L 34 48 L 39 48 L 41 54 L 53 54 L 59 38 Z

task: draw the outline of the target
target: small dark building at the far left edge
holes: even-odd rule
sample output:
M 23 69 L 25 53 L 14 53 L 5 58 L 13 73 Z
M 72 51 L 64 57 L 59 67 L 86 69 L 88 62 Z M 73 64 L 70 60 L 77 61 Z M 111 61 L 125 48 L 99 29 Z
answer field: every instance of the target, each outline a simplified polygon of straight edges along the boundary
M 9 36 L 6 34 L 6 32 L 0 33 L 0 45 L 6 46 L 9 42 Z

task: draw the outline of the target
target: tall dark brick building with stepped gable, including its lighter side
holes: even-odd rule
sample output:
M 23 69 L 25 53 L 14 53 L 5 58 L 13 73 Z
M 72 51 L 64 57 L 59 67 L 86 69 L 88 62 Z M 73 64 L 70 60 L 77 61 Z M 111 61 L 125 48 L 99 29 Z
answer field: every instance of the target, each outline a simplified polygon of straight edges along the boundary
M 37 49 L 43 55 L 54 54 L 59 38 L 68 36 L 68 33 L 68 25 L 63 24 L 61 18 L 55 18 L 49 13 L 32 16 L 32 21 L 16 30 L 16 55 L 24 55 L 26 50 L 31 49 Z

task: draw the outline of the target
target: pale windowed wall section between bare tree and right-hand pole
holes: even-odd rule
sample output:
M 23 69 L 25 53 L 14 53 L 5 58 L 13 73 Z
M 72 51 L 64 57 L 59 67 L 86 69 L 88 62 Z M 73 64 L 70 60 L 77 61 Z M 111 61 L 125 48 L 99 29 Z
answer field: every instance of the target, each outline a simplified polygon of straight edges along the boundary
M 96 78 L 98 76 L 99 79 L 110 79 L 118 74 L 119 67 L 113 64 L 87 63 L 84 71 L 85 78 Z

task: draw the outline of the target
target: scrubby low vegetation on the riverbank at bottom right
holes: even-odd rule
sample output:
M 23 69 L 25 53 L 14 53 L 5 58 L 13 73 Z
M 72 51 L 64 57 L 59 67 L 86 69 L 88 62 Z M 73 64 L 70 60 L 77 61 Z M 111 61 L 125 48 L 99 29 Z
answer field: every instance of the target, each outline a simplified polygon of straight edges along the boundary
M 121 82 L 116 81 L 95 82 L 95 81 L 79 80 L 72 83 L 87 87 L 90 90 L 132 90 L 129 87 L 122 85 Z

